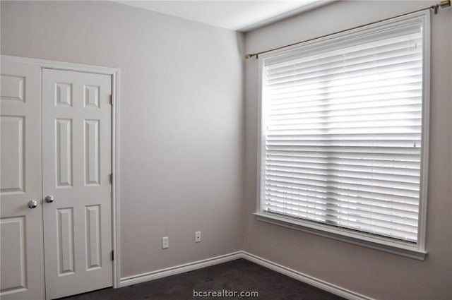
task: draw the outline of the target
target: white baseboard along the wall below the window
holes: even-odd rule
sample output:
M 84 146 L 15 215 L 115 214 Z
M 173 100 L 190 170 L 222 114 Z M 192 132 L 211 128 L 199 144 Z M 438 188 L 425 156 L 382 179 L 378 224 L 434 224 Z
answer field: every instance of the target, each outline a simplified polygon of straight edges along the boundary
M 312 285 L 313 287 L 317 287 L 319 289 L 323 289 L 326 292 L 330 292 L 332 294 L 341 296 L 350 300 L 374 300 L 368 296 L 364 296 L 362 294 L 358 294 L 357 292 L 352 292 L 350 289 L 344 289 L 343 287 L 338 287 L 335 284 L 331 284 L 329 282 L 320 280 L 319 278 L 312 277 L 310 275 L 304 274 L 302 272 L 298 272 L 296 270 L 285 267 L 284 265 L 280 265 L 278 263 L 273 263 L 273 261 L 266 260 L 265 258 L 261 258 L 259 256 L 255 256 L 254 254 L 247 253 L 242 251 L 242 258 L 251 261 L 252 263 L 256 263 L 265 268 L 273 270 L 275 272 L 281 273 L 288 277 L 292 277 L 295 280 L 307 283 Z

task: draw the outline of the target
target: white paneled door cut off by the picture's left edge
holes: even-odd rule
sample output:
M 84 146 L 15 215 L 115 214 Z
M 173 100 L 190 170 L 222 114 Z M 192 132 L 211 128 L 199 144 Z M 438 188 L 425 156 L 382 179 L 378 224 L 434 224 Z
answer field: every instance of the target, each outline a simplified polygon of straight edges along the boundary
M 40 72 L 1 62 L 1 299 L 44 299 Z M 33 202 L 35 201 L 35 202 Z

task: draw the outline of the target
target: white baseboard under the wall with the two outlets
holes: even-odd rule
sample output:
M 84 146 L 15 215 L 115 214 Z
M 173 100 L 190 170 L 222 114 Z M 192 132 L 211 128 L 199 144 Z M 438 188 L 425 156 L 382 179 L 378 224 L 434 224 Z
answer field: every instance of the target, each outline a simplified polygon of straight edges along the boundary
M 129 277 L 121 278 L 120 287 L 126 287 L 127 285 L 137 284 L 140 282 L 146 282 L 149 280 L 156 280 L 158 278 L 167 277 L 171 275 L 177 275 L 192 270 L 209 267 L 210 265 L 218 265 L 219 263 L 226 263 L 231 260 L 242 258 L 242 251 L 225 254 L 223 256 L 216 256 L 213 258 L 207 258 L 198 260 L 193 263 L 185 263 L 184 265 L 176 265 L 171 268 L 165 268 L 161 270 L 155 270 L 153 272 L 147 272 L 143 274 L 133 275 Z

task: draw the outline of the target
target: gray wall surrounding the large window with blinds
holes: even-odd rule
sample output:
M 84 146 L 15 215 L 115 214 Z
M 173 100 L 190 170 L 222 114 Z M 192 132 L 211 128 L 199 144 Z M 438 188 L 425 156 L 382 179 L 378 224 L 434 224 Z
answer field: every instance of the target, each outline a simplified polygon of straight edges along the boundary
M 249 32 L 246 52 L 259 52 L 435 2 L 339 1 Z M 452 8 L 432 17 L 432 98 L 425 261 L 353 246 L 256 221 L 258 61 L 246 61 L 244 250 L 375 299 L 452 299 Z

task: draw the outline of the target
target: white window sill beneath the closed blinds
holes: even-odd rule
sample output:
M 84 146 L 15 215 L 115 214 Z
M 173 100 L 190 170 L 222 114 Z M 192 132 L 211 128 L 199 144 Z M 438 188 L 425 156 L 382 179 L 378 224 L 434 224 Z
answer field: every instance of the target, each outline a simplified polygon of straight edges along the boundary
M 378 236 L 369 236 L 359 232 L 350 232 L 350 230 L 347 229 L 335 228 L 323 224 L 315 224 L 303 220 L 290 220 L 284 217 L 263 214 L 261 212 L 255 212 L 254 215 L 256 216 L 256 220 L 259 221 L 299 230 L 301 232 L 324 236 L 329 239 L 345 241 L 346 243 L 357 246 L 372 248 L 417 260 L 424 260 L 427 256 L 426 251 L 421 251 L 417 248 L 417 246 L 411 246 L 403 243 L 402 241 L 392 241 L 389 239 L 379 238 Z

